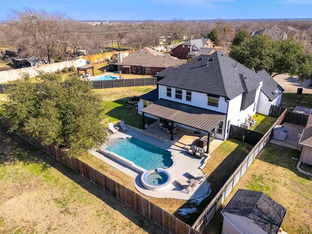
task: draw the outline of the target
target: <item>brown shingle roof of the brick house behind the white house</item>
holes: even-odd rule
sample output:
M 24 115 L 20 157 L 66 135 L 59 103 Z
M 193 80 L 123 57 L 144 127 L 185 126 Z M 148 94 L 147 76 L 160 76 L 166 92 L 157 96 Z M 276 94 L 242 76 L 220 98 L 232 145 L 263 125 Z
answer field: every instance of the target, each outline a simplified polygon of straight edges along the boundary
M 168 53 L 163 54 L 148 47 L 142 48 L 140 51 L 129 53 L 122 62 L 117 65 L 131 65 L 142 67 L 177 67 L 186 63 L 185 59 L 177 59 Z

